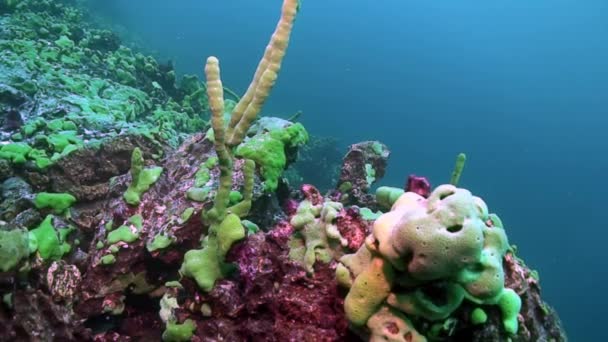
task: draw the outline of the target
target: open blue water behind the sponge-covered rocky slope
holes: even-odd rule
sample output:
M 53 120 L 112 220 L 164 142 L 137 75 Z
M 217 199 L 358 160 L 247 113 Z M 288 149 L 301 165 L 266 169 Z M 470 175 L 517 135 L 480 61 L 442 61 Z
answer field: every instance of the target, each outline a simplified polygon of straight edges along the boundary
M 242 93 L 280 0 L 97 1 L 180 72 L 216 55 Z M 572 341 L 608 340 L 608 1 L 306 0 L 265 113 L 409 173 L 461 185 L 502 217 Z

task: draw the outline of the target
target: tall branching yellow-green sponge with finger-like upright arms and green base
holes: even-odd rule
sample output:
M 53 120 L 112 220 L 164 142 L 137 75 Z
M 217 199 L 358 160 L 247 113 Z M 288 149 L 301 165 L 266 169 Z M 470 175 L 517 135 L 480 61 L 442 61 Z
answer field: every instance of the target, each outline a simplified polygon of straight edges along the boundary
M 215 57 L 209 57 L 205 65 L 207 96 L 212 113 L 211 125 L 220 166 L 220 182 L 213 208 L 205 215 L 209 231 L 203 240 L 202 248 L 186 252 L 180 273 L 194 278 L 198 286 L 206 292 L 213 289 L 218 279 L 231 272 L 231 265 L 225 262 L 226 253 L 236 241 L 245 237 L 245 228 L 240 217 L 246 216 L 251 208 L 255 162 L 246 156 L 243 165 L 245 176 L 243 200 L 228 208 L 232 190 L 231 148 L 243 141 L 276 81 L 298 7 L 298 0 L 283 1 L 279 24 L 247 93 L 232 112 L 228 128 L 224 125 L 224 90 L 219 61 Z

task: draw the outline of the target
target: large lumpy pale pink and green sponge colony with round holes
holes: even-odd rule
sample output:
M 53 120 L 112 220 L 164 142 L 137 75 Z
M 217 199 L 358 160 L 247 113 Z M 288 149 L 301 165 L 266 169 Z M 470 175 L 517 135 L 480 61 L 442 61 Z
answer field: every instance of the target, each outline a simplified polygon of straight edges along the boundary
M 504 287 L 508 250 L 500 219 L 468 190 L 441 185 L 428 198 L 406 192 L 365 244 L 340 259 L 338 281 L 350 288 L 346 315 L 367 325 L 372 339 L 424 341 L 413 320 L 445 320 L 468 300 L 498 305 L 514 334 L 521 300 Z

